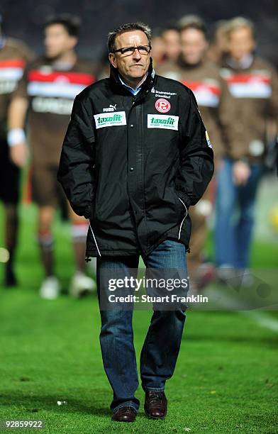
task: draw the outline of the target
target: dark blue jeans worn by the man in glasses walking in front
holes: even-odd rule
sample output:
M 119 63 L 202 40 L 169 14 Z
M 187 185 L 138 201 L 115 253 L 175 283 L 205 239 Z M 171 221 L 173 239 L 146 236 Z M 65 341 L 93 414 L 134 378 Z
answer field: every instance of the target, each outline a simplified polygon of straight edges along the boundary
M 187 278 L 186 249 L 182 243 L 165 240 L 148 257 L 143 257 L 146 269 L 179 269 Z M 138 269 L 139 255 L 126 257 L 98 257 L 96 279 L 98 296 L 107 291 L 101 280 L 101 272 L 109 269 L 123 270 L 122 277 L 134 274 Z M 131 270 L 133 269 L 133 270 Z M 111 270 L 111 272 L 110 272 Z M 101 283 L 102 282 L 102 283 Z M 101 286 L 102 285 L 102 286 Z M 188 289 L 187 289 L 188 291 Z M 187 295 L 183 294 L 183 295 Z M 104 369 L 113 389 L 110 408 L 132 406 L 138 411 L 139 400 L 135 398 L 138 388 L 138 371 L 133 346 L 133 308 L 130 310 L 101 310 L 101 353 Z M 163 391 L 165 382 L 172 377 L 179 354 L 185 311 L 153 311 L 150 327 L 140 354 L 140 377 L 144 390 Z

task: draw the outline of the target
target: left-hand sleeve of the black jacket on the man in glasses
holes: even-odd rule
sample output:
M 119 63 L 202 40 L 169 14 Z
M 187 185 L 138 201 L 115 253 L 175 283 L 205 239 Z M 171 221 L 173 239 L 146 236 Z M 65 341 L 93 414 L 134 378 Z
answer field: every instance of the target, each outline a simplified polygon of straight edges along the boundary
M 91 217 L 95 191 L 94 126 L 90 104 L 74 99 L 72 116 L 62 145 L 57 179 L 75 213 Z

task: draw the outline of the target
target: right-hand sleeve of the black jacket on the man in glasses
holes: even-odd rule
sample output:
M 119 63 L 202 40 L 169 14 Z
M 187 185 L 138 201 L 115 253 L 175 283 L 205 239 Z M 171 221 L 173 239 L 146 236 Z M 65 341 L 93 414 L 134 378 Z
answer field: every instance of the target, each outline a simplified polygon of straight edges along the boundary
M 179 168 L 175 186 L 188 207 L 203 196 L 213 175 L 213 150 L 208 133 L 201 119 L 195 96 L 189 90 L 189 104 L 183 104 L 187 112 L 181 116 L 181 140 Z

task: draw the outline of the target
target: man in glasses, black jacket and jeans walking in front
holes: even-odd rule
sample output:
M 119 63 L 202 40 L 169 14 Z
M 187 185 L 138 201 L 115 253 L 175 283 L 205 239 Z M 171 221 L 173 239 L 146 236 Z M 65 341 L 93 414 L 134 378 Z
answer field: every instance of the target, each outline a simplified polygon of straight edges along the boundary
M 109 34 L 111 75 L 79 94 L 58 179 L 70 204 L 90 219 L 87 257 L 97 257 L 101 351 L 113 389 L 113 421 L 135 421 L 139 400 L 132 309 L 102 308 L 107 276 L 147 269 L 187 276 L 188 208 L 213 174 L 213 152 L 192 92 L 155 75 L 150 28 L 125 24 Z M 185 293 L 186 294 L 186 293 Z M 185 313 L 154 311 L 140 355 L 145 413 L 164 418 Z

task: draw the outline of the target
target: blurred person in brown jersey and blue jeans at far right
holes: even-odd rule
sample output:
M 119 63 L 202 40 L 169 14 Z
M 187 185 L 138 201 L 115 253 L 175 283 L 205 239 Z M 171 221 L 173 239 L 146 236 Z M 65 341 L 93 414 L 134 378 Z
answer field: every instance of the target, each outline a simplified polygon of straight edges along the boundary
M 223 279 L 250 266 L 255 199 L 267 145 L 266 126 L 271 123 L 274 138 L 278 114 L 277 72 L 255 54 L 252 22 L 233 18 L 227 25 L 227 38 L 228 55 L 221 75 L 230 89 L 235 118 L 233 139 L 226 143 L 217 180 L 216 265 Z

